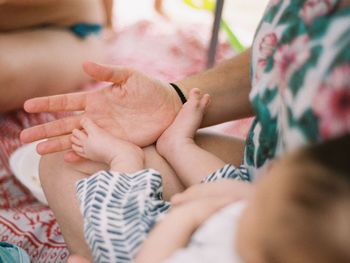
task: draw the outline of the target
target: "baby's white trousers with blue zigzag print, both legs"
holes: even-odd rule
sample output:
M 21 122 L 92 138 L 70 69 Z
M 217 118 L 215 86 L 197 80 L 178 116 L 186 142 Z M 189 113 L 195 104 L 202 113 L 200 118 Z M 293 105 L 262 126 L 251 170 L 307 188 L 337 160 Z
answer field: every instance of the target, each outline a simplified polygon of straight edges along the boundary
M 202 183 L 248 180 L 244 168 L 225 165 Z M 97 263 L 129 263 L 155 223 L 169 210 L 161 175 L 152 169 L 134 174 L 100 171 L 77 183 L 84 235 Z

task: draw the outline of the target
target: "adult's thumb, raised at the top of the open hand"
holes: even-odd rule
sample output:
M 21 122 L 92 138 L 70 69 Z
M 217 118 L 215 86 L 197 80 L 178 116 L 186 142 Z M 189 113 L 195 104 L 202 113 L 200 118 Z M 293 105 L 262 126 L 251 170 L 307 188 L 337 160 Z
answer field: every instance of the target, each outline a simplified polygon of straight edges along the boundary
M 125 83 L 133 73 L 132 69 L 126 67 L 102 65 L 94 62 L 85 62 L 83 69 L 95 80 L 108 81 L 115 84 Z

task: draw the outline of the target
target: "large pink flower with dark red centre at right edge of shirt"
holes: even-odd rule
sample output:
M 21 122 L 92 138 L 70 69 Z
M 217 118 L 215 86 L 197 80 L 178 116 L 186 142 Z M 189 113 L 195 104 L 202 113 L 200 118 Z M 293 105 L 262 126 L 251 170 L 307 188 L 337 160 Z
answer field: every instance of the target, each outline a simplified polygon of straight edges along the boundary
M 322 138 L 350 132 L 350 65 L 338 66 L 320 88 L 313 110 L 319 118 Z

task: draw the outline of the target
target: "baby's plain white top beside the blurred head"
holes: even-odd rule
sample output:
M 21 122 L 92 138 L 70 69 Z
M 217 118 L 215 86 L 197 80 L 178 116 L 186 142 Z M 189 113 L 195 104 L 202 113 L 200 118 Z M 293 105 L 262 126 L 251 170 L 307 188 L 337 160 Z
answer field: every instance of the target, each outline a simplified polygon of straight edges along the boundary
M 186 248 L 164 263 L 242 263 L 236 249 L 236 234 L 245 206 L 240 201 L 215 213 L 197 229 Z

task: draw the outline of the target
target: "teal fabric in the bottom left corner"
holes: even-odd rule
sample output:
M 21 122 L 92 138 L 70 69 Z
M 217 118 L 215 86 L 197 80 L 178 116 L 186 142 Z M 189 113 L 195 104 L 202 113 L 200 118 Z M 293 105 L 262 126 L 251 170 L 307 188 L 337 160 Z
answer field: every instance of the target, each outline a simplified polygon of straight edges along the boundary
M 27 253 L 15 245 L 0 242 L 0 263 L 30 263 Z

